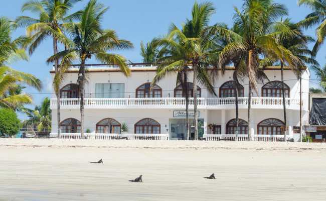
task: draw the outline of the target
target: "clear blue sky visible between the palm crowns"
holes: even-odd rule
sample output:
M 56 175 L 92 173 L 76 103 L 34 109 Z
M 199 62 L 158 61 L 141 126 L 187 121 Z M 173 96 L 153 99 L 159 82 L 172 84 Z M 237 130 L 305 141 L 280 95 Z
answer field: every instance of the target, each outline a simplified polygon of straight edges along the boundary
M 22 5 L 26 0 L 10 0 L 7 4 L 2 4 L 0 7 L 0 15 L 10 19 L 15 19 L 20 15 L 31 15 L 30 13 L 21 13 Z M 78 4 L 74 10 L 80 10 L 88 1 L 84 0 Z M 171 23 L 181 25 L 187 18 L 190 18 L 191 9 L 194 0 L 99 0 L 105 6 L 110 7 L 103 19 L 103 28 L 113 29 L 117 32 L 121 39 L 126 39 L 134 44 L 134 49 L 119 52 L 128 60 L 137 63 L 141 62 L 140 42 L 150 41 L 153 37 L 161 36 L 167 33 Z M 201 3 L 204 1 L 198 0 Z M 216 14 L 211 19 L 211 24 L 223 22 L 228 25 L 232 24 L 234 14 L 233 7 L 240 8 L 241 0 L 214 0 Z M 310 10 L 304 6 L 298 7 L 297 0 L 276 0 L 275 2 L 284 4 L 290 18 L 297 22 L 302 20 Z M 314 29 L 307 30 L 307 34 L 315 36 Z M 24 29 L 19 29 L 15 32 L 15 37 L 24 35 Z M 311 44 L 312 46 L 312 44 Z M 320 65 L 325 63 L 324 45 L 318 55 L 317 60 Z M 28 62 L 22 61 L 14 63 L 12 67 L 25 72 L 33 73 L 39 77 L 44 84 L 43 93 L 34 93 L 34 104 L 40 104 L 45 96 L 50 96 L 51 81 L 49 70 L 52 66 L 46 64 L 46 58 L 52 55 L 52 41 L 49 39 L 43 43 L 38 50 L 30 57 Z M 312 79 L 315 77 L 312 75 Z M 316 86 L 316 80 L 311 80 L 310 85 Z M 37 92 L 27 88 L 26 92 Z M 34 106 L 32 106 L 34 107 Z

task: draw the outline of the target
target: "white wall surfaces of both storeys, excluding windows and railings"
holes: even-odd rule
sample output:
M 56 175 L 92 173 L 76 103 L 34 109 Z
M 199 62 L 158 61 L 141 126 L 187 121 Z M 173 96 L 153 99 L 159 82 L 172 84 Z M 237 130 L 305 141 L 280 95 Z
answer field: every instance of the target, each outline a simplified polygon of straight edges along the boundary
M 219 72 L 220 73 L 220 72 Z M 224 75 L 221 73 L 215 78 L 215 91 L 216 94 L 219 94 L 219 86 L 224 82 L 232 78 L 233 71 L 226 71 Z M 266 70 L 266 75 L 270 81 L 280 80 L 280 70 Z M 89 72 L 86 74 L 88 83 L 85 87 L 86 97 L 95 97 L 95 84 L 96 83 L 125 83 L 125 97 L 135 97 L 135 90 L 141 84 L 151 81 L 155 75 L 155 71 L 137 71 L 132 72 L 130 77 L 125 77 L 121 72 Z M 53 76 L 53 73 L 52 73 Z M 192 82 L 192 74 L 190 73 L 189 81 Z M 296 79 L 294 73 L 289 70 L 284 71 L 284 80 L 285 83 L 291 88 L 290 97 L 299 99 L 299 82 Z M 69 83 L 77 82 L 77 73 L 66 73 L 65 80 L 62 86 Z M 266 81 L 267 82 L 267 81 Z M 265 83 L 266 83 L 265 82 Z M 245 79 L 242 83 L 245 87 L 245 96 L 248 96 L 248 80 Z M 176 87 L 176 74 L 171 74 L 167 76 L 164 80 L 161 80 L 157 83 L 162 88 L 162 97 L 174 96 L 174 88 Z M 258 96 L 261 95 L 261 87 L 264 83 L 258 83 Z M 210 97 L 207 90 L 204 86 L 200 85 L 202 88 L 202 97 Z M 302 100 L 303 100 L 303 125 L 308 122 L 308 91 L 309 91 L 309 72 L 305 71 L 302 75 Z M 257 95 L 254 93 L 254 95 Z M 55 98 L 55 95 L 52 96 Z M 224 122 L 225 124 L 235 118 L 235 110 L 209 110 L 201 111 L 200 118 L 205 119 L 205 130 L 207 124 L 222 124 L 222 115 L 225 114 Z M 247 121 L 247 110 L 240 110 L 239 117 Z M 80 120 L 80 111 L 76 110 L 61 110 L 61 121 L 67 118 L 75 118 Z M 95 125 L 100 120 L 104 118 L 113 118 L 118 122 L 126 123 L 129 127 L 129 133 L 133 133 L 134 124 L 143 119 L 143 118 L 152 118 L 158 121 L 161 124 L 161 133 L 166 133 L 165 125 L 169 128 L 169 119 L 173 118 L 173 110 L 106 110 L 106 109 L 86 109 L 85 110 L 85 129 L 90 129 L 92 132 L 95 132 Z M 268 118 L 277 118 L 283 120 L 283 111 L 282 110 L 268 110 L 268 109 L 254 109 L 252 110 L 252 127 L 256 133 L 257 124 Z M 52 132 L 57 132 L 57 115 L 56 109 L 52 110 Z M 299 111 L 287 110 L 287 120 L 289 126 L 298 126 L 299 124 Z M 222 128 L 222 132 L 225 132 L 225 128 Z

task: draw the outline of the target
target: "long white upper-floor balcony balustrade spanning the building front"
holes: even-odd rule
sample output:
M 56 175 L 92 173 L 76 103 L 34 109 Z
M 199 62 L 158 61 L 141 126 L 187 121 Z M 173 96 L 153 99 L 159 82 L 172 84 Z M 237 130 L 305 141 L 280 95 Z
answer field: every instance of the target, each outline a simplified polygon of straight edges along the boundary
M 299 99 L 285 98 L 286 109 L 299 110 Z M 185 98 L 85 98 L 85 109 L 186 109 Z M 283 109 L 282 98 L 252 97 L 252 109 Z M 189 98 L 189 108 L 194 99 Z M 234 110 L 235 98 L 197 98 L 198 109 Z M 239 109 L 248 107 L 248 97 L 239 97 Z M 51 99 L 51 109 L 57 108 L 57 99 Z M 79 98 L 61 98 L 61 109 L 79 109 Z

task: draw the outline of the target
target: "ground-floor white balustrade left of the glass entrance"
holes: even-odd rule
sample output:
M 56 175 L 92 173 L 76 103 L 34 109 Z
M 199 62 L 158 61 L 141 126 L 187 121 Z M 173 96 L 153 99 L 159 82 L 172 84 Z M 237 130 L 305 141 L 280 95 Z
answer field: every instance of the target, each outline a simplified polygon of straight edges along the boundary
M 169 134 L 106 134 L 106 133 L 85 133 L 84 139 L 94 140 L 168 140 Z M 57 133 L 51 133 L 50 137 L 58 137 Z M 61 133 L 61 139 L 81 139 L 80 133 Z

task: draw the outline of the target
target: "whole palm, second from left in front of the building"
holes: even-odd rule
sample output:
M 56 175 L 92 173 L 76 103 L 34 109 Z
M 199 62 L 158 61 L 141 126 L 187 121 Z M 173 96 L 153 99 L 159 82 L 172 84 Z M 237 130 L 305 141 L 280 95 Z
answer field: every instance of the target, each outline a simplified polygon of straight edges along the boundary
M 81 137 L 84 137 L 84 87 L 85 87 L 85 62 L 94 56 L 98 61 L 108 65 L 118 65 L 125 76 L 130 75 L 130 69 L 126 59 L 118 54 L 107 53 L 110 50 L 121 50 L 132 48 L 132 44 L 126 40 L 120 40 L 113 30 L 103 30 L 101 20 L 108 10 L 96 0 L 90 0 L 82 11 L 80 21 L 67 25 L 67 30 L 72 40 L 65 38 L 66 49 L 54 54 L 48 62 L 56 59 L 60 62 L 60 73 L 55 76 L 56 83 L 62 81 L 63 73 L 73 64 L 73 61 L 80 61 L 78 83 L 80 89 L 80 121 Z

